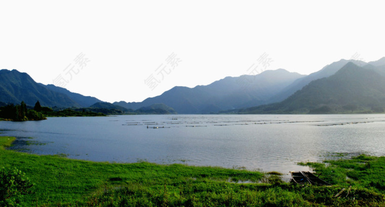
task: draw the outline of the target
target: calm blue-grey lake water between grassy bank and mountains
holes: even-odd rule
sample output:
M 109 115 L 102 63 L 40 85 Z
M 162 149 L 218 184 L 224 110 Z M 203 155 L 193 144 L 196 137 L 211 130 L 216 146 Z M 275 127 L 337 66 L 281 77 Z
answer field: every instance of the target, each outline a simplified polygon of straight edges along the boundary
M 288 173 L 336 153 L 385 155 L 385 114 L 52 117 L 0 121 L 0 136 L 36 154 Z

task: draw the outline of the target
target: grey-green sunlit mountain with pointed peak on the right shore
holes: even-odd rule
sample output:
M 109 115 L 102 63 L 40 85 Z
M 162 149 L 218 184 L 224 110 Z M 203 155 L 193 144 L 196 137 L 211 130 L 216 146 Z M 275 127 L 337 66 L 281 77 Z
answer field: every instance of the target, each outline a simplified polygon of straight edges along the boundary
M 314 80 L 279 103 L 240 110 L 240 113 L 383 112 L 385 76 L 382 67 L 368 69 L 348 62 L 335 74 Z

